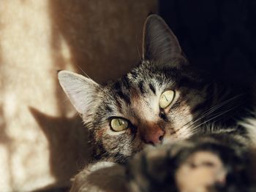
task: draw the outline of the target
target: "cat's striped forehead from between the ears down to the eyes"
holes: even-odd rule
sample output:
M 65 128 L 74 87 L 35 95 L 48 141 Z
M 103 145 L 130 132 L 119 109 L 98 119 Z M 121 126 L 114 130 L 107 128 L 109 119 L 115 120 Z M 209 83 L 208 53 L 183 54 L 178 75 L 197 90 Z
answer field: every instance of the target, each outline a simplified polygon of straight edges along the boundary
M 170 74 L 170 71 L 169 71 Z M 159 113 L 159 97 L 165 90 L 176 86 L 175 77 L 167 77 L 165 72 L 148 67 L 138 67 L 110 83 L 105 99 L 110 101 L 111 115 L 138 117 L 154 120 Z

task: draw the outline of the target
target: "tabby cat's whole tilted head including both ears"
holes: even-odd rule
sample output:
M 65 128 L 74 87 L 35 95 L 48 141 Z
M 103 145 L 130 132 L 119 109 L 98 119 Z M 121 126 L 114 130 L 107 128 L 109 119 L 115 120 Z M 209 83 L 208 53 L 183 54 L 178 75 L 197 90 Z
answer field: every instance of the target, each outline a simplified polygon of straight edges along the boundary
M 92 131 L 97 154 L 114 161 L 146 145 L 189 137 L 207 92 L 157 15 L 149 16 L 144 26 L 142 63 L 121 79 L 102 86 L 61 71 L 59 81 Z

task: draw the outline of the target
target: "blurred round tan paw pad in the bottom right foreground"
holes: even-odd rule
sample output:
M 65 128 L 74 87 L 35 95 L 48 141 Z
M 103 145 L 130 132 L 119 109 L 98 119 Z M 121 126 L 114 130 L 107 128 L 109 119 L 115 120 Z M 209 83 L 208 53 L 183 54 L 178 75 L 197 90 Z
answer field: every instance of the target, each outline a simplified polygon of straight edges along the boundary
M 197 151 L 178 167 L 175 174 L 179 191 L 205 192 L 211 186 L 224 186 L 227 169 L 218 155 Z

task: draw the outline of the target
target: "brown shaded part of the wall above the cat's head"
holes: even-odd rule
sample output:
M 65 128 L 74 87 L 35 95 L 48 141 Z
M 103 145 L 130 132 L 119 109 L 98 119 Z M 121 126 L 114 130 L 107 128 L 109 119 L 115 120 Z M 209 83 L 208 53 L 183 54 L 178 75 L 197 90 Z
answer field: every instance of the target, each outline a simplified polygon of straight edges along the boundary
M 143 21 L 148 12 L 156 10 L 154 1 L 57 0 L 49 3 L 53 58 L 59 67 L 64 67 L 58 53 L 61 41 L 69 46 L 70 63 L 75 68 L 80 66 L 97 82 L 116 79 L 140 61 L 137 46 L 141 47 Z

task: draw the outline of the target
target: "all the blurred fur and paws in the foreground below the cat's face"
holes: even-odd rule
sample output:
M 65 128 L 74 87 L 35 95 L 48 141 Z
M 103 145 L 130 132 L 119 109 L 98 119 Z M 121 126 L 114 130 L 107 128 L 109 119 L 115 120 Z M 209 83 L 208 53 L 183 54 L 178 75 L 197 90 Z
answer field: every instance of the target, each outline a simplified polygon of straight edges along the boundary
M 256 118 L 241 123 L 256 128 Z M 71 191 L 255 191 L 255 136 L 209 134 L 148 147 L 126 164 L 88 166 Z

